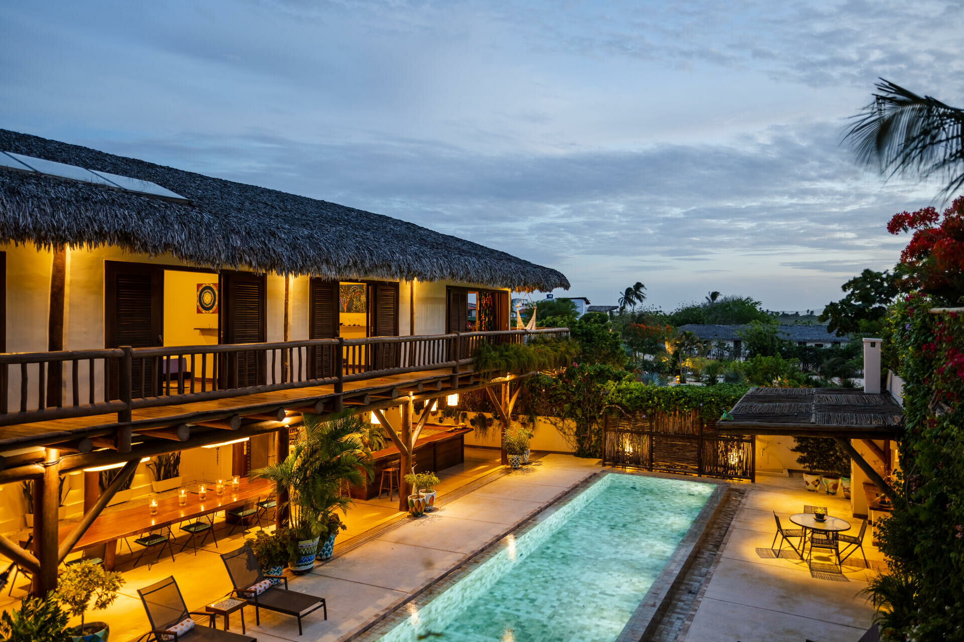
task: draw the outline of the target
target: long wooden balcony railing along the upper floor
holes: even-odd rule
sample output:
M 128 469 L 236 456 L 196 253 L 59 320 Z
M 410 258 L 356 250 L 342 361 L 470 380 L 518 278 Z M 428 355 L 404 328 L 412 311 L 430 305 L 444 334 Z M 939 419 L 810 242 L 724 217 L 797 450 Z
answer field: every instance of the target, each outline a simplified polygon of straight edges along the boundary
M 458 374 L 483 343 L 568 334 L 568 328 L 543 328 L 0 354 L 0 426 L 110 413 L 126 423 L 138 408 L 321 385 L 342 393 L 346 382 L 389 374 L 446 368 Z M 59 379 L 51 377 L 57 369 Z M 63 385 L 51 386 L 51 378 Z

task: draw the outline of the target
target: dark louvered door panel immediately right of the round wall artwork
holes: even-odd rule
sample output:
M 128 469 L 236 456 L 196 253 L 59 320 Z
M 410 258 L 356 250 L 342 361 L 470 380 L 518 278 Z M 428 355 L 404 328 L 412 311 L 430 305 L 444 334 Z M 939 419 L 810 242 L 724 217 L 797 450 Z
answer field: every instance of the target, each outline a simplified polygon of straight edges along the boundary
M 221 343 L 263 344 L 267 341 L 267 281 L 264 274 L 221 273 Z M 265 353 L 252 349 L 221 358 L 223 388 L 246 388 L 267 381 Z

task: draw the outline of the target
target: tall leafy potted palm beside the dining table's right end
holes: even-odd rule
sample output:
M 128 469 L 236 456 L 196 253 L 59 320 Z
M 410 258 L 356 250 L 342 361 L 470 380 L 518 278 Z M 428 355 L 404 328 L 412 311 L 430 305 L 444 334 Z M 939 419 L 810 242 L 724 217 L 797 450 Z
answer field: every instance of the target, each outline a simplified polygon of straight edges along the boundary
M 337 511 L 346 513 L 353 501 L 341 494 L 342 484 L 365 486 L 374 466 L 362 441 L 367 428 L 357 415 L 345 411 L 328 422 L 309 413 L 304 417 L 305 430 L 294 451 L 253 476 L 274 482 L 279 498 L 288 491 L 290 499 L 279 502 L 278 509 L 290 509 L 292 537 L 313 539 L 343 527 Z

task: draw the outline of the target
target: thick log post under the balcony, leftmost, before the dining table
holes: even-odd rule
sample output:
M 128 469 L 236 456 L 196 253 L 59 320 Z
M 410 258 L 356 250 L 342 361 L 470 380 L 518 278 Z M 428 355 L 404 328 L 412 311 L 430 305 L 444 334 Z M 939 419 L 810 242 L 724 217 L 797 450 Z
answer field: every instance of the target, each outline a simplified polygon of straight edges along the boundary
M 60 452 L 47 449 L 43 476 L 34 482 L 34 550 L 40 564 L 40 573 L 34 575 L 31 593 L 42 598 L 57 588 L 58 517 L 60 505 Z

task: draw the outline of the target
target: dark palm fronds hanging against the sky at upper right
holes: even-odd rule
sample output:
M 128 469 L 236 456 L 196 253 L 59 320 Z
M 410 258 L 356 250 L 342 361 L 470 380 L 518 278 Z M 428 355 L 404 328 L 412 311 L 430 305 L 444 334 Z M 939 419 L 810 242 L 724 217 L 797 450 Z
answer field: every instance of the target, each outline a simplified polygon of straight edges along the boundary
M 876 89 L 844 134 L 858 160 L 889 176 L 946 174 L 944 195 L 964 186 L 964 110 L 883 78 Z

